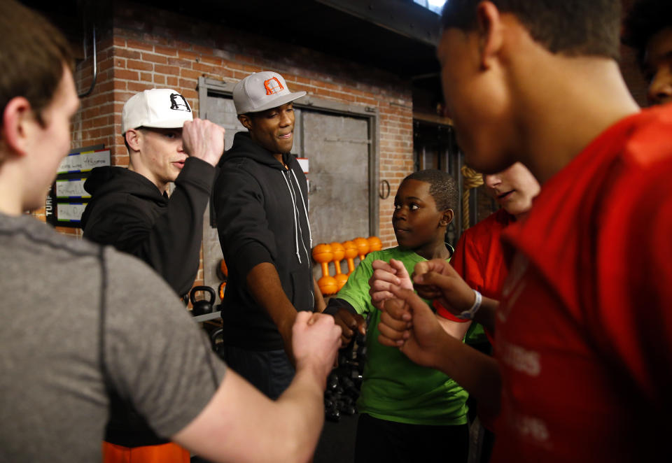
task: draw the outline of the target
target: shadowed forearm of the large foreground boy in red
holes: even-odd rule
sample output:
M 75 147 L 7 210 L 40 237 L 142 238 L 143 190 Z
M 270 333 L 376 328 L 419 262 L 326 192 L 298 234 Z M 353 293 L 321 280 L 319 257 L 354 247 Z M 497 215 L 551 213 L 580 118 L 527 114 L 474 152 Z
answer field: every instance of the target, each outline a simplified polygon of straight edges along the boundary
M 449 334 L 444 334 L 435 356 L 435 369 L 446 373 L 471 394 L 489 413 L 500 407 L 502 380 L 493 357 L 471 348 Z

